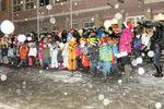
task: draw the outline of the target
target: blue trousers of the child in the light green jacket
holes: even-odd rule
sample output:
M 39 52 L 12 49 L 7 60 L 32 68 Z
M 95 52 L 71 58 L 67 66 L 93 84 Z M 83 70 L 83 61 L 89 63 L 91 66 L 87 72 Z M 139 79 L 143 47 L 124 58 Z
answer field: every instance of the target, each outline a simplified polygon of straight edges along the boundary
M 103 74 L 109 76 L 110 74 L 112 62 L 103 62 Z

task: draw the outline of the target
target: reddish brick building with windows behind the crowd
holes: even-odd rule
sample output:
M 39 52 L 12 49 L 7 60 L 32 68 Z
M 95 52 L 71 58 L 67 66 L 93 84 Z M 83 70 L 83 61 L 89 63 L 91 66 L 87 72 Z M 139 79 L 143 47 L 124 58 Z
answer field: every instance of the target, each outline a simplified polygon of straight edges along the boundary
M 2 11 L 4 1 L 8 11 Z M 133 26 L 142 19 L 164 21 L 164 0 L 0 0 L 0 20 L 13 21 L 15 34 L 56 32 L 71 26 L 99 27 L 106 20 L 119 28 L 126 20 Z M 122 17 L 117 21 L 114 17 L 118 12 Z

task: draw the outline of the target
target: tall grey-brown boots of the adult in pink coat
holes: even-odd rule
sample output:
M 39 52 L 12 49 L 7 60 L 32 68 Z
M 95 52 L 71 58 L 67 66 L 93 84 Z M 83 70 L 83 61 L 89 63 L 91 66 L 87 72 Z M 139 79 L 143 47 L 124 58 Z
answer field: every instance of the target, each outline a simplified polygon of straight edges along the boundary
M 125 75 L 122 76 L 122 82 L 129 82 L 131 73 L 130 68 L 130 64 L 125 65 Z

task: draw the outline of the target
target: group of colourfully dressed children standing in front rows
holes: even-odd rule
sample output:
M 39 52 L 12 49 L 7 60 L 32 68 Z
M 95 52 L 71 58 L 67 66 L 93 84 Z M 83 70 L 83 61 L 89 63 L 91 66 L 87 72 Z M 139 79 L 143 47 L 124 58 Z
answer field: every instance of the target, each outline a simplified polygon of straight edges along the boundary
M 17 66 L 39 66 L 46 69 L 82 70 L 108 76 L 112 66 L 117 69 L 118 40 L 107 39 L 95 32 L 90 37 L 78 40 L 70 32 L 67 43 L 48 35 L 38 43 L 24 41 L 3 44 L 0 40 L 0 63 Z M 32 37 L 33 38 L 33 37 Z

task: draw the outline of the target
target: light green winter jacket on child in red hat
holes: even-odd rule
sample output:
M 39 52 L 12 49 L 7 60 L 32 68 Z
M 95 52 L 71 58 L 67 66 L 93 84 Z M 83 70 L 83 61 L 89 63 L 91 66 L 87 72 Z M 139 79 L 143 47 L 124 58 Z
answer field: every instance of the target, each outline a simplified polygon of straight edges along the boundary
M 109 62 L 113 60 L 112 48 L 107 45 L 103 45 L 99 49 L 99 60 L 104 62 Z

